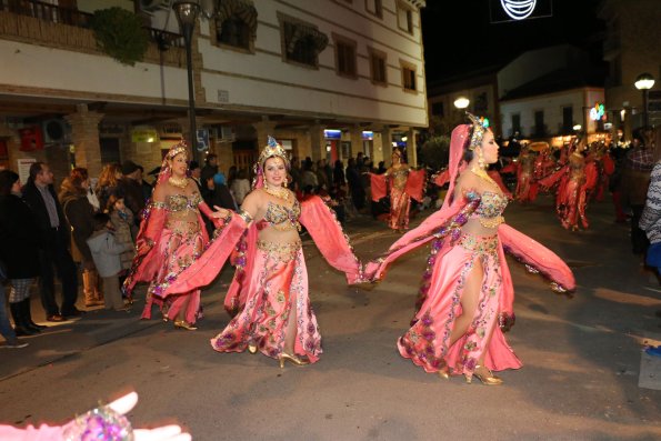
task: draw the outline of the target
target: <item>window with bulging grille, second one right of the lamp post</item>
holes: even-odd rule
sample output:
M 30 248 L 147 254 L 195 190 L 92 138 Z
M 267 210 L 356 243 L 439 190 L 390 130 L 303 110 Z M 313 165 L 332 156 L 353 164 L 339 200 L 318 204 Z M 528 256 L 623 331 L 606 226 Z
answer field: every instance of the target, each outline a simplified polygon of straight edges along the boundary
M 328 46 L 328 37 L 312 24 L 282 14 L 280 29 L 284 60 L 317 68 L 319 53 Z

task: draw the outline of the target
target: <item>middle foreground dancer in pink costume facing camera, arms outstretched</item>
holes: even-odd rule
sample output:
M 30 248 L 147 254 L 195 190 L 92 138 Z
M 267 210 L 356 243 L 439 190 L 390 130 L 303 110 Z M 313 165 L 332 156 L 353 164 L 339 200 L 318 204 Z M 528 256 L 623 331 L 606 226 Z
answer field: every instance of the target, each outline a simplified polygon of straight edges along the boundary
M 260 351 L 278 359 L 281 368 L 284 362 L 313 363 L 322 352 L 308 295 L 301 224 L 349 283 L 363 280 L 362 267 L 331 210 L 319 197 L 299 203 L 287 188 L 288 168 L 284 149 L 269 137 L 256 164 L 253 190 L 241 211 L 217 208 L 214 216 L 224 224 L 221 234 L 166 290 L 186 292 L 210 283 L 233 253 L 237 272 L 224 305 L 234 317 L 211 339 L 211 347 L 219 352 Z

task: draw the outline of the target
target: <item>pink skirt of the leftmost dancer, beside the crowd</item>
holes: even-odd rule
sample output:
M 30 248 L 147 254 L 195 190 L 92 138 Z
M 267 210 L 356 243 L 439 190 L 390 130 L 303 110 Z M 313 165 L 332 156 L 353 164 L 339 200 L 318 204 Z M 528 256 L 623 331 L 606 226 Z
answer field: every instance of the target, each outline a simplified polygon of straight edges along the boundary
M 204 250 L 204 238 L 199 223 L 197 221 L 169 221 L 157 247 L 159 247 L 158 257 L 162 261 L 162 265 L 147 291 L 142 319 L 151 318 L 151 307 L 156 303 L 163 318 L 169 320 L 174 320 L 182 308 L 186 308 L 183 318 L 192 324 L 200 318 L 200 290 L 164 297 L 161 293 Z

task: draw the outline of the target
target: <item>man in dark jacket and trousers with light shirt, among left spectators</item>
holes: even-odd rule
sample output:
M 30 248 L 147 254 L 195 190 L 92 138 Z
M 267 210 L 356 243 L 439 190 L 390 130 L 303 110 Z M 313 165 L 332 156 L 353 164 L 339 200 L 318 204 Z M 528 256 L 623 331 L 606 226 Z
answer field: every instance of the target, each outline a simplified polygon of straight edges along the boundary
M 78 275 L 76 264 L 69 253 L 71 230 L 56 191 L 53 173 L 48 164 L 34 162 L 30 166 L 30 178 L 23 187 L 23 200 L 34 213 L 41 233 L 42 248 L 39 250 L 41 304 L 48 321 L 63 321 L 64 317 L 81 314 L 76 308 L 78 299 Z M 62 283 L 62 308 L 56 301 L 54 272 Z

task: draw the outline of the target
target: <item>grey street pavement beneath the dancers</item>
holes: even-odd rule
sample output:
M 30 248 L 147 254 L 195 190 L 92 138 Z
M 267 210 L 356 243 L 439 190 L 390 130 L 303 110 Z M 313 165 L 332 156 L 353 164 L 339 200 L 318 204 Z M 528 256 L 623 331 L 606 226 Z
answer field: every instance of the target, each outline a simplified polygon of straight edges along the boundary
M 628 227 L 613 222 L 610 203 L 592 203 L 588 216 L 590 230 L 570 232 L 550 197 L 508 208 L 508 223 L 561 255 L 578 289 L 571 298 L 557 294 L 509 260 L 517 324 L 508 339 L 523 368 L 500 373 L 501 387 L 444 381 L 397 352 L 428 249 L 361 291 L 347 287 L 307 239 L 323 338 L 318 363 L 281 370 L 261 354 L 210 348 L 229 321 L 226 268 L 203 292 L 198 331 L 140 321 L 138 301 L 130 313 L 92 310 L 27 338 L 26 349 L 1 349 L 0 421 L 61 422 L 136 390 L 134 427 L 178 421 L 196 440 L 659 440 L 661 358 L 642 349 L 661 343 L 661 285 L 631 253 Z M 361 259 L 398 238 L 368 217 L 347 231 Z

